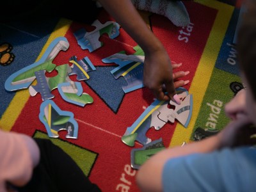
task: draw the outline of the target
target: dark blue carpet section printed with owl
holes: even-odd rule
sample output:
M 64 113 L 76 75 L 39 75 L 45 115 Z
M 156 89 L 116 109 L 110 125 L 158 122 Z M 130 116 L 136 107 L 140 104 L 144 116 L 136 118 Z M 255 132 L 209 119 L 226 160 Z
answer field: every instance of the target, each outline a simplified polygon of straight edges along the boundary
M 216 68 L 237 76 L 239 76 L 239 68 L 237 63 L 237 51 L 233 45 L 233 40 L 238 17 L 239 10 L 235 8 L 215 65 Z

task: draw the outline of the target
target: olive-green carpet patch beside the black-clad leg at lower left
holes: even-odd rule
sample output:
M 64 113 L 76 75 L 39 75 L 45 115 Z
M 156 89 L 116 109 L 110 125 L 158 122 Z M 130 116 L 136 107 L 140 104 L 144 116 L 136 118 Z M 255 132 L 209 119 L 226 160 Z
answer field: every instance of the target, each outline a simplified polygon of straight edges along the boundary
M 59 138 L 49 138 L 44 132 L 36 131 L 33 137 L 51 140 L 52 143 L 62 148 L 70 157 L 72 157 L 81 170 L 83 170 L 84 175 L 90 175 L 92 166 L 98 156 L 97 153 L 78 147 L 67 141 L 60 140 Z

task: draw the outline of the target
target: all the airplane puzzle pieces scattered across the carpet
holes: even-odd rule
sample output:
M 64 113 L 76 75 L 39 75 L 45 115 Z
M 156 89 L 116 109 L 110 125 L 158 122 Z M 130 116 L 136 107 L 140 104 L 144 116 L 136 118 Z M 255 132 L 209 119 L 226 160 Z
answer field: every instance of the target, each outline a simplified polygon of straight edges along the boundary
M 116 38 L 120 34 L 120 26 L 118 23 L 108 21 L 104 24 L 99 20 L 95 20 L 92 24 L 95 30 L 88 32 L 85 29 L 79 29 L 74 33 L 77 43 L 81 49 L 88 49 L 93 52 L 102 47 L 99 41 L 100 36 L 107 33 L 109 38 Z M 40 106 L 40 121 L 45 125 L 47 133 L 51 138 L 58 138 L 58 131 L 66 130 L 66 138 L 77 138 L 78 124 L 74 119 L 74 114 L 69 111 L 61 111 L 61 109 L 51 100 L 54 98 L 52 90 L 58 88 L 63 100 L 84 107 L 86 104 L 92 104 L 93 98 L 88 93 L 83 92 L 80 82 L 72 81 L 69 76 L 76 75 L 77 81 L 85 81 L 90 79 L 88 72 L 96 70 L 93 63 L 88 57 L 77 60 L 76 56 L 72 56 L 69 60 L 72 65 L 63 64 L 56 66 L 52 61 L 60 51 L 66 51 L 69 47 L 67 38 L 56 38 L 44 52 L 42 58 L 22 68 L 10 76 L 4 86 L 6 90 L 20 90 L 29 88 L 31 96 L 37 93 L 41 94 L 42 104 Z M 134 54 L 127 55 L 125 51 L 117 52 L 102 59 L 104 63 L 116 63 L 118 67 L 111 70 L 111 74 L 115 79 L 120 76 L 125 78 L 127 86 L 122 86 L 125 93 L 132 92 L 143 87 L 143 63 L 145 60 L 144 52 L 140 46 L 134 47 Z M 46 77 L 46 72 L 56 70 L 57 76 Z M 36 79 L 37 84 L 31 85 Z M 128 127 L 122 136 L 122 141 L 130 146 L 134 146 L 134 142 L 138 141 L 143 145 L 142 148 L 134 148 L 131 150 L 131 166 L 138 169 L 150 156 L 156 154 L 165 147 L 162 138 L 152 141 L 147 138 L 148 129 L 161 129 L 166 123 L 174 123 L 175 119 L 180 124 L 187 127 L 191 118 L 193 97 L 185 88 L 177 88 L 177 94 L 180 97 L 181 104 L 176 104 L 172 100 L 160 101 L 155 100 L 141 116 Z

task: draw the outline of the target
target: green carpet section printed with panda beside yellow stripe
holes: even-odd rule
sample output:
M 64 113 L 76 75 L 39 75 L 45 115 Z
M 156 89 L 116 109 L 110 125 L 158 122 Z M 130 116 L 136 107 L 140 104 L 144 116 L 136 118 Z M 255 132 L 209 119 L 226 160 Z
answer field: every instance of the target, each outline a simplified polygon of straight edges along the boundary
M 214 68 L 200 107 L 200 113 L 196 118 L 194 131 L 198 127 L 218 131 L 227 125 L 230 119 L 225 115 L 225 104 L 234 97 L 230 84 L 235 81 L 241 83 L 241 78 Z

